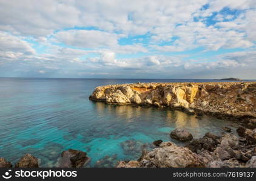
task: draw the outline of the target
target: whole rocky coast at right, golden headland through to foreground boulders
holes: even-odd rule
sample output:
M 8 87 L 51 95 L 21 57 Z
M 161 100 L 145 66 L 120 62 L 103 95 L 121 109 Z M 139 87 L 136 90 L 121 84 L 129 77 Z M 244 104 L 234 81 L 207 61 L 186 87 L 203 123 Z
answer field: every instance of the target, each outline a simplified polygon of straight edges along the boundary
M 107 104 L 181 109 L 240 122 L 238 136 L 228 127 L 221 136 L 206 133 L 193 139 L 176 129 L 170 137 L 186 142 L 184 147 L 157 140 L 152 151 L 138 160 L 120 161 L 118 168 L 138 167 L 256 167 L 256 83 L 133 83 L 96 87 L 90 100 Z

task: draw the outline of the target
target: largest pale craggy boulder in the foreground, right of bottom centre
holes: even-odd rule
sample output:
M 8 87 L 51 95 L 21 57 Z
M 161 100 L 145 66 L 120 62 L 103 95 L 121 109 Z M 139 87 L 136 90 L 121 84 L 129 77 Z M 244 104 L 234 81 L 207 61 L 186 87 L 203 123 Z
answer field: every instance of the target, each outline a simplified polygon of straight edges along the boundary
M 197 154 L 173 142 L 162 142 L 159 148 L 141 156 L 140 161 L 119 162 L 118 168 L 127 167 L 204 167 Z

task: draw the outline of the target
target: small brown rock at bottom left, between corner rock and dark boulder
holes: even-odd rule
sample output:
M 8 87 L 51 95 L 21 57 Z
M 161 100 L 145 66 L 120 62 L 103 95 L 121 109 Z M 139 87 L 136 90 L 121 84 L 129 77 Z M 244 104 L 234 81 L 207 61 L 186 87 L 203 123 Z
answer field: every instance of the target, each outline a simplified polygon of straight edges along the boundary
M 38 159 L 31 154 L 25 154 L 15 165 L 16 168 L 38 168 Z

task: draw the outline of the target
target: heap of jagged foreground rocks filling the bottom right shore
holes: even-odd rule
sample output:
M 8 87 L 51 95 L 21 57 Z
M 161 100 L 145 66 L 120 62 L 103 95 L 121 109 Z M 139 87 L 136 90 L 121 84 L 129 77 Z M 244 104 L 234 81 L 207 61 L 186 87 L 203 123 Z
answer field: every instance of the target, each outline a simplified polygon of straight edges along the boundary
M 256 168 L 255 130 L 239 127 L 237 132 L 239 138 L 232 133 L 206 133 L 184 147 L 161 142 L 158 148 L 144 151 L 140 159 L 118 162 L 117 167 Z

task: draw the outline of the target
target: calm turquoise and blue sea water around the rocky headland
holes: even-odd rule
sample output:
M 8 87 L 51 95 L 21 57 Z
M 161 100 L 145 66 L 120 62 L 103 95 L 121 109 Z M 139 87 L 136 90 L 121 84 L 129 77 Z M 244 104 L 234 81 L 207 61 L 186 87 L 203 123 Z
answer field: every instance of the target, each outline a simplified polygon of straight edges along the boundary
M 170 131 L 189 130 L 195 138 L 220 134 L 234 122 L 155 107 L 113 106 L 90 101 L 96 86 L 113 83 L 212 80 L 107 80 L 0 78 L 0 157 L 13 164 L 25 153 L 56 167 L 61 151 L 86 151 L 86 167 L 114 167 L 117 160 L 138 159 L 153 141 L 173 141 Z

